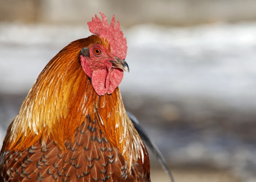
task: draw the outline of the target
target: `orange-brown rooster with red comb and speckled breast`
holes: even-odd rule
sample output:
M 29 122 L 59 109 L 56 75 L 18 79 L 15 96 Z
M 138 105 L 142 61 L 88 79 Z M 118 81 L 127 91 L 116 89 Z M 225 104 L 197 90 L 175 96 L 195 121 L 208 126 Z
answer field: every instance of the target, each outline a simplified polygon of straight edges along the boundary
M 150 181 L 146 147 L 118 89 L 127 41 L 103 13 L 64 47 L 8 127 L 0 181 Z

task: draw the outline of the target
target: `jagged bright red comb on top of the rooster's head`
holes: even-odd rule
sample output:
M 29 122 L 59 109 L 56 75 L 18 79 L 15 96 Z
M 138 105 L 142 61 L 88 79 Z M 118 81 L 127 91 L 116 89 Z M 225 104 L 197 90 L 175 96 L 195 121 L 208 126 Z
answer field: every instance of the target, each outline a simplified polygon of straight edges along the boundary
M 99 12 L 99 14 L 101 14 L 102 21 L 95 14 L 95 18 L 93 17 L 93 19 L 87 23 L 90 32 L 108 40 L 112 54 L 119 59 L 125 59 L 127 42 L 123 32 L 120 30 L 119 21 L 117 21 L 116 24 L 115 16 L 113 15 L 109 25 L 106 16 L 101 12 Z

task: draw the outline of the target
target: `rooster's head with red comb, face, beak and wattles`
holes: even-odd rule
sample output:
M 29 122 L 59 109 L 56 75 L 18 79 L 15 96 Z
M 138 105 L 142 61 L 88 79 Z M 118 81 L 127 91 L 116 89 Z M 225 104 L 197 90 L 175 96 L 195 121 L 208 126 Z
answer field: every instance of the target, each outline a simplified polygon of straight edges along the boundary
M 89 30 L 95 35 L 93 43 L 80 51 L 80 61 L 83 71 L 91 78 L 91 83 L 98 95 L 112 94 L 123 79 L 123 71 L 129 72 L 125 62 L 127 42 L 120 30 L 119 21 L 115 27 L 113 16 L 110 25 L 103 13 L 102 21 L 95 15 L 88 22 Z

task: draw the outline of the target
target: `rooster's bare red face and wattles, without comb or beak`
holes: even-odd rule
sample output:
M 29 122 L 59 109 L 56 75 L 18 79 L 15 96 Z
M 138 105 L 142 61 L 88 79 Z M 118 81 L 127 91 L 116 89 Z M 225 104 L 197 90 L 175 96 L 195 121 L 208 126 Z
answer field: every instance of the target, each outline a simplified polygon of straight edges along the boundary
M 116 61 L 115 57 L 100 44 L 93 44 L 89 48 L 90 56 L 80 56 L 81 65 L 98 95 L 112 94 L 123 79 L 123 70 L 113 67 L 109 61 Z

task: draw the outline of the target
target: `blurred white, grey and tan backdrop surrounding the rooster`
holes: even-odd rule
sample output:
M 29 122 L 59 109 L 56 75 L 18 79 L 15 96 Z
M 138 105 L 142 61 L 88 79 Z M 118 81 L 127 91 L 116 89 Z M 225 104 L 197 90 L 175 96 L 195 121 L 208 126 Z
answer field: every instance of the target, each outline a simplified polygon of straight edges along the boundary
M 87 21 L 127 37 L 120 84 L 176 182 L 256 181 L 255 0 L 0 0 L 0 141 L 35 79 Z M 2 143 L 0 143 L 0 146 Z M 170 181 L 151 155 L 152 181 Z

